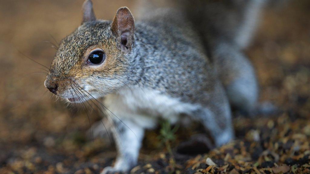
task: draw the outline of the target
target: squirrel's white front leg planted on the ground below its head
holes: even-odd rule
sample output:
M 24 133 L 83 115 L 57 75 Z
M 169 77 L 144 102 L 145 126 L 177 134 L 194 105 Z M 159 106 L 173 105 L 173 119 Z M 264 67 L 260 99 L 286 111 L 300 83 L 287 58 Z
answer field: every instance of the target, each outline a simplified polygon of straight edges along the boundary
M 105 167 L 101 174 L 129 172 L 138 162 L 144 128 L 131 120 L 114 120 L 113 126 L 112 132 L 118 155 L 114 167 Z

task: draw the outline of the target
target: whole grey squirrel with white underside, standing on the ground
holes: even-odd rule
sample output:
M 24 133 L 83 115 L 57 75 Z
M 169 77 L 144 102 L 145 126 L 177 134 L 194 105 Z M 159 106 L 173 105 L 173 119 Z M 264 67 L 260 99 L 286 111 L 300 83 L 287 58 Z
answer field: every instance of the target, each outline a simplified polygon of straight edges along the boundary
M 134 167 L 144 130 L 159 119 L 199 121 L 221 146 L 234 138 L 230 105 L 247 113 L 259 106 L 241 50 L 263 1 L 188 2 L 136 22 L 127 7 L 113 21 L 96 20 L 86 0 L 81 26 L 60 42 L 44 85 L 71 103 L 103 102 L 118 150 L 104 174 Z

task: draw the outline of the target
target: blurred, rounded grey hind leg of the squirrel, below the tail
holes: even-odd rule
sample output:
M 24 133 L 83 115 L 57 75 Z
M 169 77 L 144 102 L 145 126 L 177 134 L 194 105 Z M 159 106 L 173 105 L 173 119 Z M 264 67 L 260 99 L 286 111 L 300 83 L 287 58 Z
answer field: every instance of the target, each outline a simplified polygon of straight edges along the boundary
M 232 107 L 249 116 L 267 111 L 258 102 L 259 85 L 255 69 L 240 50 L 231 44 L 221 43 L 214 50 L 213 58 Z

